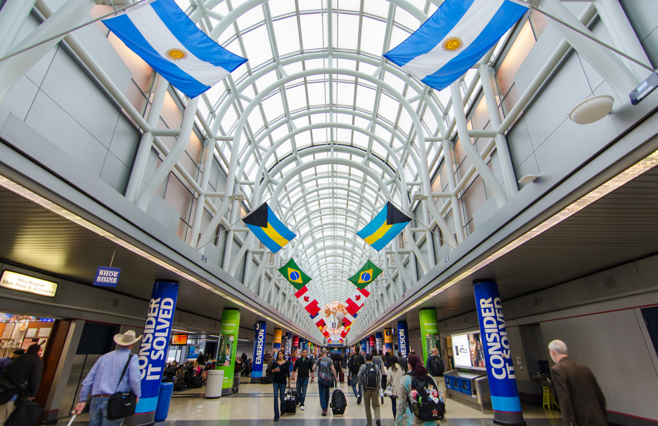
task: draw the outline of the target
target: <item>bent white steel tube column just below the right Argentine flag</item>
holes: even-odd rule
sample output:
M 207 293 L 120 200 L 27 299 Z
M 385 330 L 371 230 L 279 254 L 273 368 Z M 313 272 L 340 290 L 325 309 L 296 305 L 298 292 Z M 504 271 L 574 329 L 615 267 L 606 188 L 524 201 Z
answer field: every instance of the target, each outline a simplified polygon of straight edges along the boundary
M 503 204 L 507 202 L 507 195 L 505 195 L 503 187 L 501 187 L 492 170 L 489 168 L 489 166 L 487 166 L 487 164 L 480 156 L 480 153 L 478 153 L 470 141 L 470 135 L 468 134 L 468 128 L 466 126 L 464 108 L 461 106 L 462 103 L 461 92 L 459 91 L 459 82 L 454 82 L 450 85 L 450 93 L 453 99 L 453 110 L 455 111 L 455 122 L 457 123 L 457 133 L 459 134 L 461 147 L 464 149 L 464 152 L 473 163 L 473 166 L 475 166 L 475 170 L 477 170 L 480 176 L 482 176 L 484 183 L 486 183 L 489 189 L 492 191 L 493 197 L 495 197 L 495 201 L 498 203 L 498 206 L 502 207 Z

